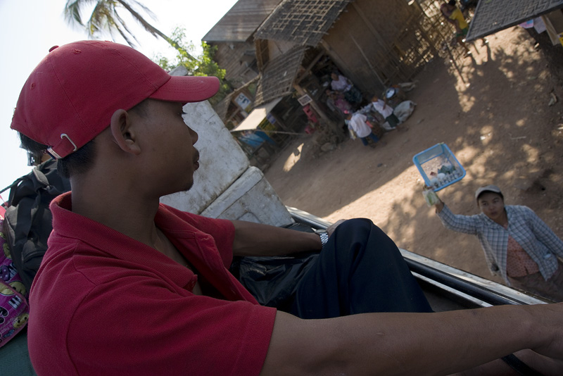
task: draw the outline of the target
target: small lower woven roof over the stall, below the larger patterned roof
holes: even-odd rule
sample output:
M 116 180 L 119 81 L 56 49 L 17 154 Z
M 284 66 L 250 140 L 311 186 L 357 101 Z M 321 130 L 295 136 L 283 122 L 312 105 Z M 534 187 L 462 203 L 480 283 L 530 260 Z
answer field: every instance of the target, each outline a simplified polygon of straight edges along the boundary
M 305 49 L 305 46 L 293 47 L 266 64 L 256 88 L 255 106 L 291 94 L 293 81 L 305 56 Z

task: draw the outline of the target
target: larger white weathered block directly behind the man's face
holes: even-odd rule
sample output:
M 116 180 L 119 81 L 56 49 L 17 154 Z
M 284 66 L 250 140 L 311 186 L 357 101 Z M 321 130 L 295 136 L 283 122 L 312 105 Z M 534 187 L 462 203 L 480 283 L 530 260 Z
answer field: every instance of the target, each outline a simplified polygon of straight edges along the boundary
M 248 158 L 208 101 L 184 106 L 184 121 L 198 133 L 199 168 L 194 187 L 160 198 L 190 213 L 201 213 L 248 168 Z M 182 173 L 178 171 L 178 173 Z

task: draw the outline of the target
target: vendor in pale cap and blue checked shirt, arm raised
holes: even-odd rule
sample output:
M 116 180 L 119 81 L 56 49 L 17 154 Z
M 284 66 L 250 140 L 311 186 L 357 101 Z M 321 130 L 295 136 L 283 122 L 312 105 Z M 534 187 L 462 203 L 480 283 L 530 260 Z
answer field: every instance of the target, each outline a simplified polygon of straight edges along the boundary
M 495 185 L 475 192 L 477 215 L 454 215 L 438 200 L 436 213 L 444 227 L 474 234 L 491 272 L 508 286 L 552 301 L 563 301 L 563 242 L 527 206 L 506 205 Z

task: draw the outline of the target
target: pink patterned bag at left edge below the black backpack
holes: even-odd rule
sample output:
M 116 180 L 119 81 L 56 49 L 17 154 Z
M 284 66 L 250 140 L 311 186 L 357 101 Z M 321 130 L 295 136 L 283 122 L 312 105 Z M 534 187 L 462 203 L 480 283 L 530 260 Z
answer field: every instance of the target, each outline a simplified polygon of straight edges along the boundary
M 0 230 L 4 218 L 0 217 Z M 18 334 L 30 317 L 27 291 L 15 270 L 5 235 L 0 232 L 0 347 Z

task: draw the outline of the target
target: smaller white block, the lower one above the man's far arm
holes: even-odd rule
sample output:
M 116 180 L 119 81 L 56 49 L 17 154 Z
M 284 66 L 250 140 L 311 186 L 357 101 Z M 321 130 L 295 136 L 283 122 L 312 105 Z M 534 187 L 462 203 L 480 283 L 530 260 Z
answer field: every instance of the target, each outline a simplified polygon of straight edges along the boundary
M 250 167 L 202 213 L 205 217 L 283 226 L 293 219 L 262 171 Z

